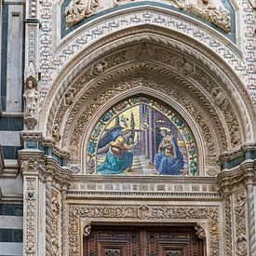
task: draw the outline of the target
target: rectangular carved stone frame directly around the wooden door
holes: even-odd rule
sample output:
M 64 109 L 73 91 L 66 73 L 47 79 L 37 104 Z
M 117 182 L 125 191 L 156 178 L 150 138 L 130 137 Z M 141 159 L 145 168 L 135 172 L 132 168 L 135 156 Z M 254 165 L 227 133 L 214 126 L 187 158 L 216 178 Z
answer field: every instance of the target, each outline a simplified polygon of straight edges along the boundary
M 69 255 L 83 255 L 83 239 L 89 235 L 91 227 L 93 229 L 95 225 L 99 224 L 111 227 L 125 224 L 135 226 L 137 229 L 140 229 L 142 225 L 148 230 L 154 230 L 154 226 L 190 226 L 193 227 L 193 230 L 195 229 L 196 236 L 200 237 L 200 239 L 206 239 L 205 245 L 209 249 L 207 255 L 222 255 L 220 246 L 222 227 L 220 226 L 220 220 L 220 208 L 218 206 L 70 205 L 68 224 L 68 234 L 70 235 Z M 79 231 L 79 234 L 76 231 Z M 148 239 L 153 238 L 148 237 Z M 202 244 L 197 248 L 199 251 L 202 250 L 201 246 Z M 168 248 L 170 249 L 168 250 Z M 186 246 L 184 244 L 180 247 L 162 246 L 162 249 L 163 251 L 167 250 L 166 253 L 170 252 L 171 249 L 180 250 L 182 253 L 186 251 Z M 152 251 L 152 253 L 156 252 Z M 181 255 L 187 256 L 190 254 Z

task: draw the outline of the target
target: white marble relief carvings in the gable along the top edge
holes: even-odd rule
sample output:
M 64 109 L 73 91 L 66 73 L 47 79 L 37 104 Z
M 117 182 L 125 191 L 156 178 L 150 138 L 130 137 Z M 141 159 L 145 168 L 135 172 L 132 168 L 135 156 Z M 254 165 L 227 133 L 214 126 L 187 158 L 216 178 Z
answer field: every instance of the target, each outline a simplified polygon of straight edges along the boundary
M 139 0 L 137 1 L 140 2 Z M 114 0 L 113 2 L 111 1 L 110 5 L 111 7 L 116 7 L 132 2 L 135 2 L 135 0 Z M 209 22 L 217 25 L 226 33 L 231 30 L 231 15 L 229 10 L 222 5 L 221 0 L 167 0 L 161 2 L 209 20 Z M 101 5 L 101 0 L 71 0 L 69 6 L 65 9 L 66 26 L 74 26 L 80 20 L 96 14 Z

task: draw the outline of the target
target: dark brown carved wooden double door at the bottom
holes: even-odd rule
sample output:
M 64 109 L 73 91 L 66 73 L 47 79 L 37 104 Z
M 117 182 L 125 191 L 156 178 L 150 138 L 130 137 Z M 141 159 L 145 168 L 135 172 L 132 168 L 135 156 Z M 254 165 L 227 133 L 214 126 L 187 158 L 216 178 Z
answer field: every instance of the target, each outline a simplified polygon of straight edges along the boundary
M 194 227 L 94 226 L 84 256 L 203 256 Z

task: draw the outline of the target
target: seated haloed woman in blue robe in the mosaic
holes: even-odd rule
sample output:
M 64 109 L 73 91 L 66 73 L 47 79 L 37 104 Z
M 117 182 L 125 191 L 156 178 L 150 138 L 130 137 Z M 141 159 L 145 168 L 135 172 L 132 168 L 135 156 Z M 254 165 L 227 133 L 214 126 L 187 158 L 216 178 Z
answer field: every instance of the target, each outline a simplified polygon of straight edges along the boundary
M 155 168 L 160 174 L 179 175 L 184 162 L 177 140 L 170 135 L 168 128 L 161 128 L 160 133 L 163 139 L 154 157 Z

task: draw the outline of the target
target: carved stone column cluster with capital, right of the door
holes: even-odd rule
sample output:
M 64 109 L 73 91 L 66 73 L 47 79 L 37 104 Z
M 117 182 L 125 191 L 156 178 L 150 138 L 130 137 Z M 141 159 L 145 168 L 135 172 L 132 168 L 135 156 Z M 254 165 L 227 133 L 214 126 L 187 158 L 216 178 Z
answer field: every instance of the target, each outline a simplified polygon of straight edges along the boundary
M 254 177 L 253 160 L 218 176 L 224 198 L 227 255 L 255 256 Z

